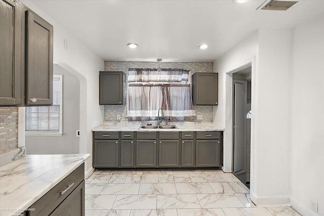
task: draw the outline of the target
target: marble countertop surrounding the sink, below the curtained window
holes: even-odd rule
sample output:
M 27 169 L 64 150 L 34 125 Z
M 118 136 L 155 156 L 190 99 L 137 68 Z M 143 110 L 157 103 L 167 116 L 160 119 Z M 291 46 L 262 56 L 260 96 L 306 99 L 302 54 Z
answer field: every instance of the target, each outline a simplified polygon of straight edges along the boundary
M 140 129 L 141 125 L 146 124 L 156 125 L 156 121 L 106 121 L 102 125 L 93 128 L 92 131 L 105 132 L 105 131 L 165 131 L 165 132 L 186 132 L 186 131 L 224 131 L 224 128 L 213 124 L 212 122 L 204 121 L 178 121 L 178 122 L 167 122 L 169 125 L 176 125 L 178 128 L 175 129 Z M 161 125 L 165 125 L 164 121 Z

